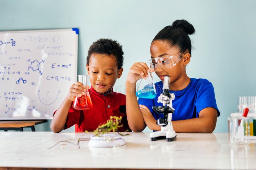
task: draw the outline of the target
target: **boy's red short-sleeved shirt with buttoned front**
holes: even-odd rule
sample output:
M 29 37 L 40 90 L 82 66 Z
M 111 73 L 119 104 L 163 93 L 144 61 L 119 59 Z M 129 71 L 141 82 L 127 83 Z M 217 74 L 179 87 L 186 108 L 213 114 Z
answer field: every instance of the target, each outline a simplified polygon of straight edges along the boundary
M 92 99 L 92 109 L 75 110 L 72 106 L 69 109 L 66 125 L 67 129 L 75 124 L 76 132 L 94 131 L 100 124 L 104 124 L 110 119 L 110 116 L 122 116 L 123 127 L 119 131 L 129 130 L 127 117 L 125 113 L 125 95 L 113 91 L 100 94 L 91 87 L 88 89 Z M 121 106 L 121 107 L 120 107 Z M 121 108 L 121 109 L 120 109 Z M 124 112 L 121 113 L 120 112 Z

